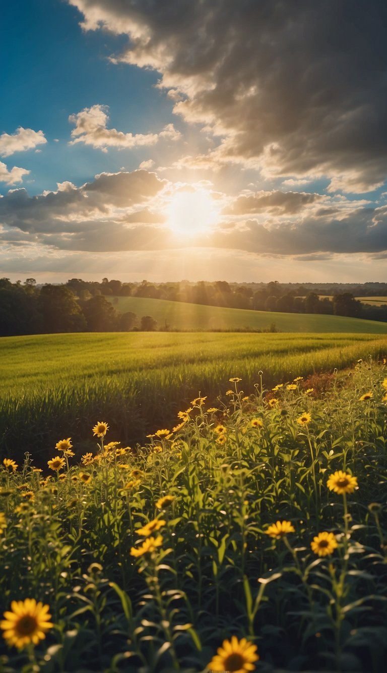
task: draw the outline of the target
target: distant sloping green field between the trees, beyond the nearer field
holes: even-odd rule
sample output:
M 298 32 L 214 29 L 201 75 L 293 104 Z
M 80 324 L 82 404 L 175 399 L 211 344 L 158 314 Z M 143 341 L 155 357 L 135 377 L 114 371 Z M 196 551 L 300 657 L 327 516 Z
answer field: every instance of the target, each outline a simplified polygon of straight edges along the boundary
M 142 318 L 152 316 L 159 328 L 170 330 L 263 330 L 271 323 L 282 332 L 352 332 L 356 334 L 386 334 L 386 323 L 342 316 L 251 311 L 241 308 L 222 308 L 203 304 L 167 302 L 165 299 L 140 297 L 107 297 L 116 310 L 131 311 Z M 118 299 L 118 301 L 117 301 Z

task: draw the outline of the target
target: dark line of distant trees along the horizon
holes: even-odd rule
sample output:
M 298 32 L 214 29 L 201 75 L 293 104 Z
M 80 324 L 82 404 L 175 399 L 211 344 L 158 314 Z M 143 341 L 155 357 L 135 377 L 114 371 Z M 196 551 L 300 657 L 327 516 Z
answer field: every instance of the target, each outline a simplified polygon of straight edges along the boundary
M 116 297 L 148 297 L 191 302 L 208 306 L 246 308 L 257 311 L 316 313 L 370 320 L 387 321 L 386 306 L 362 304 L 355 295 L 387 295 L 387 284 L 365 283 L 355 286 L 355 294 L 335 291 L 332 297 L 327 285 L 310 289 L 310 284 L 292 283 L 121 283 L 103 278 L 101 283 L 73 278 L 61 285 L 38 286 L 34 278 L 24 283 L 0 279 L 0 336 L 17 334 L 49 334 L 54 332 L 129 332 L 167 330 L 158 326 L 152 316 L 138 318 L 133 312 L 121 313 L 114 308 Z M 371 296 L 371 295 L 370 295 Z M 110 301 L 107 297 L 111 297 Z

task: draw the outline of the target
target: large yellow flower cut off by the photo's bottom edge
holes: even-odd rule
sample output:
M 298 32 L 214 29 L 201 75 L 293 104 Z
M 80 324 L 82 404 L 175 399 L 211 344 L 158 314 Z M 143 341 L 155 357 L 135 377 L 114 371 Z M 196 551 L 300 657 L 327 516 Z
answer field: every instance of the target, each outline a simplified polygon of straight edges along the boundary
M 208 664 L 210 671 L 229 671 L 230 673 L 247 673 L 255 669 L 254 663 L 259 660 L 257 645 L 252 645 L 246 638 L 224 640 L 218 647 L 216 655 Z

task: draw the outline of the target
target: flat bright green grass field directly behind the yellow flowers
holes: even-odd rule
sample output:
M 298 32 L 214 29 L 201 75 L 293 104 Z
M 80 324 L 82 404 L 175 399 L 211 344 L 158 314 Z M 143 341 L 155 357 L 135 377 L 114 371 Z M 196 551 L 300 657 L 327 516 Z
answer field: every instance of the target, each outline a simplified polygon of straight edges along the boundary
M 108 417 L 122 441 L 143 441 L 199 391 L 216 401 L 230 376 L 249 392 L 343 369 L 387 352 L 373 334 L 131 332 L 0 340 L 0 450 L 47 455 L 52 435 L 87 448 L 84 428 Z

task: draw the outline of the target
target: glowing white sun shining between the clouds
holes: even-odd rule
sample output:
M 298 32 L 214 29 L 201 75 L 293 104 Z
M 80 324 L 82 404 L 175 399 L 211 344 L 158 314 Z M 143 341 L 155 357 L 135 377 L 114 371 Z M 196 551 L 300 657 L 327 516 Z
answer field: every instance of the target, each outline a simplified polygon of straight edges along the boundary
M 167 205 L 167 227 L 174 234 L 190 237 L 203 234 L 216 223 L 219 208 L 207 190 L 181 189 L 173 194 Z

